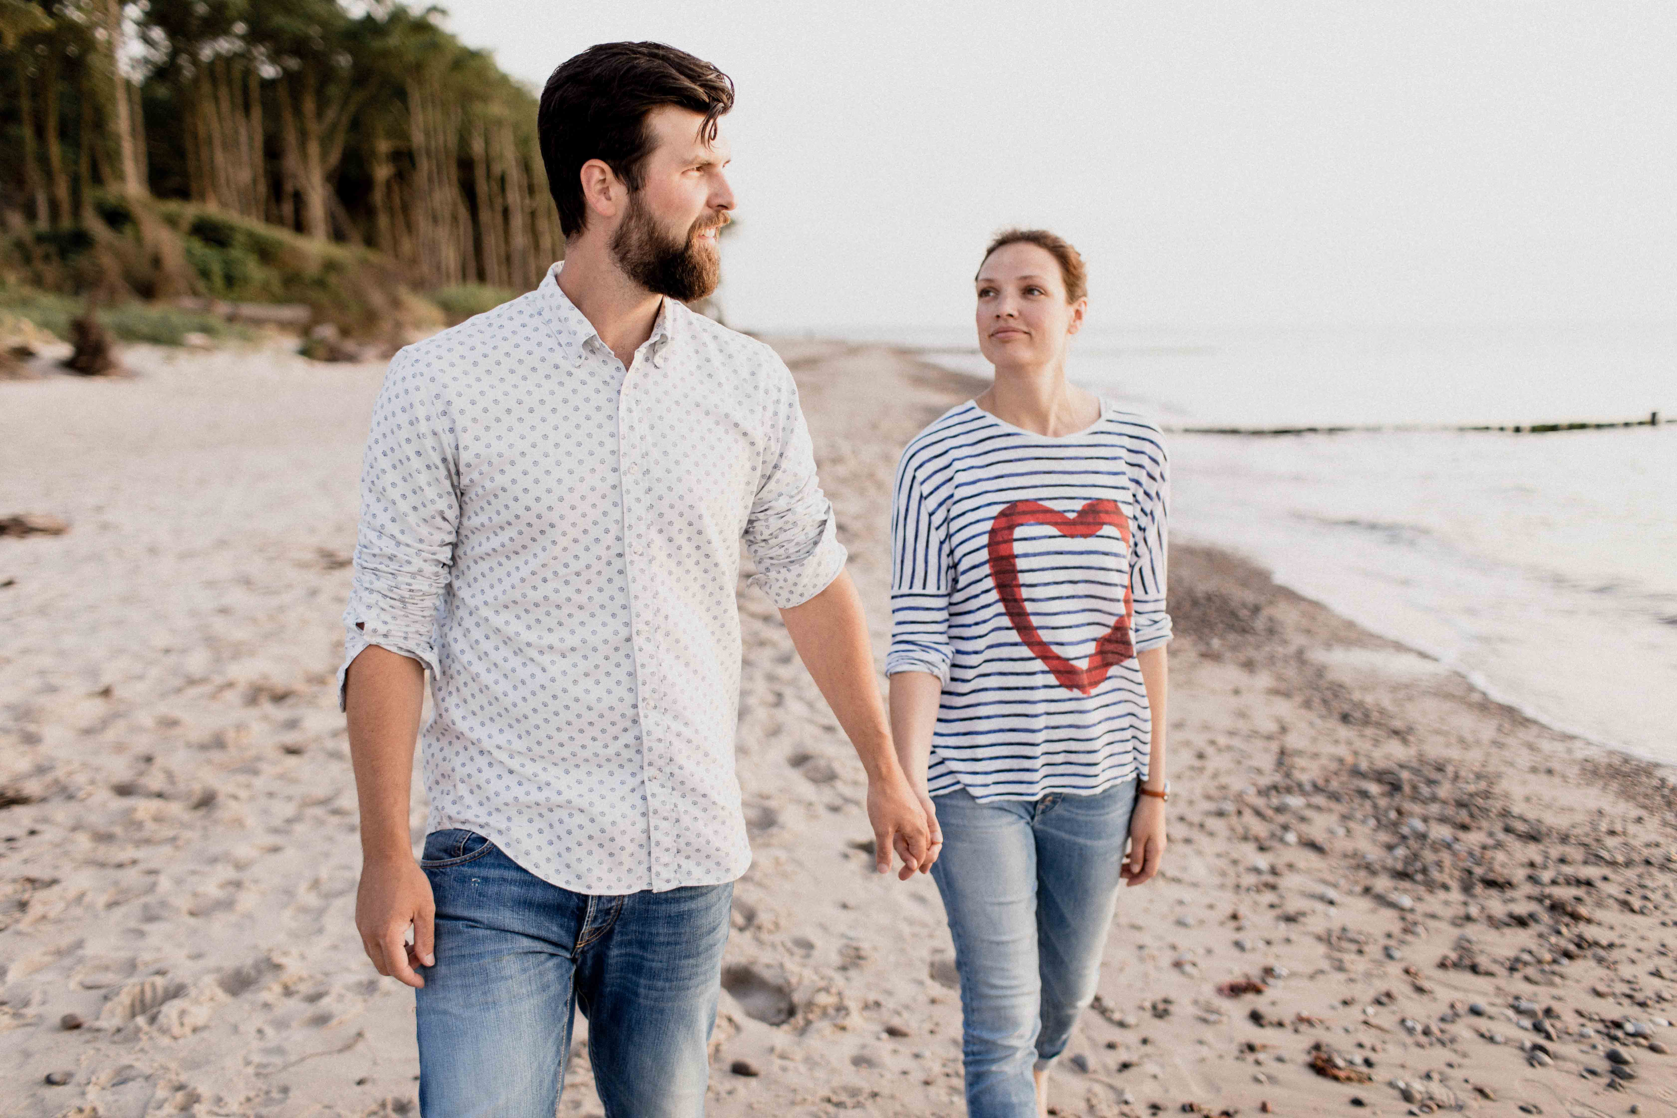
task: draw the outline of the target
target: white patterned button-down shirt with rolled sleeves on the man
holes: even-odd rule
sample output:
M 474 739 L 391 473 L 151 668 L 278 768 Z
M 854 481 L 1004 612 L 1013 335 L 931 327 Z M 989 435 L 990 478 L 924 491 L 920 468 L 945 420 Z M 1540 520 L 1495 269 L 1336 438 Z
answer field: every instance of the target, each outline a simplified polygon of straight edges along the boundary
M 845 551 L 771 349 L 666 298 L 624 370 L 557 277 L 391 362 L 344 665 L 431 670 L 428 830 L 580 893 L 731 882 L 740 541 L 783 608 Z

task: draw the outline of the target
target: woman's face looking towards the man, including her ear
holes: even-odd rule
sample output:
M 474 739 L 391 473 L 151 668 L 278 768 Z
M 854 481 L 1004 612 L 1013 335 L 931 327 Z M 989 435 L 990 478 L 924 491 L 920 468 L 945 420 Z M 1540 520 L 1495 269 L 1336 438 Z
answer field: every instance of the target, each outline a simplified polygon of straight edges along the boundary
M 1065 354 L 1087 298 L 1065 302 L 1060 261 L 1030 241 L 1003 245 L 978 270 L 978 349 L 998 369 L 1040 367 Z

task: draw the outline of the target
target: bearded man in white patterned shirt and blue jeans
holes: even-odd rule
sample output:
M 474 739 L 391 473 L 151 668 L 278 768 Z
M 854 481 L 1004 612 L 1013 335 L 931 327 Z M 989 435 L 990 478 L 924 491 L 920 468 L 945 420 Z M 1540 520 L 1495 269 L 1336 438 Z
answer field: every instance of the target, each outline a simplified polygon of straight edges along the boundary
M 724 74 L 661 44 L 560 65 L 538 132 L 563 263 L 401 350 L 374 409 L 340 672 L 356 925 L 418 989 L 426 1115 L 552 1118 L 577 1007 L 607 1115 L 703 1113 L 751 857 L 741 540 L 867 769 L 879 872 L 936 857 L 792 375 L 683 305 L 718 280 L 731 106 Z

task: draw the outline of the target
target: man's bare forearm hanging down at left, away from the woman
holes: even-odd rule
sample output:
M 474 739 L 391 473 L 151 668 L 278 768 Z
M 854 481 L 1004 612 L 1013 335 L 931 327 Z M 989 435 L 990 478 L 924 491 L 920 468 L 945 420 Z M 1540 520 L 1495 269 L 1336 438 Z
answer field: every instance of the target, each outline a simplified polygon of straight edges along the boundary
M 349 665 L 344 709 L 361 805 L 361 851 L 367 862 L 413 857 L 408 811 L 423 707 L 419 660 L 369 645 Z

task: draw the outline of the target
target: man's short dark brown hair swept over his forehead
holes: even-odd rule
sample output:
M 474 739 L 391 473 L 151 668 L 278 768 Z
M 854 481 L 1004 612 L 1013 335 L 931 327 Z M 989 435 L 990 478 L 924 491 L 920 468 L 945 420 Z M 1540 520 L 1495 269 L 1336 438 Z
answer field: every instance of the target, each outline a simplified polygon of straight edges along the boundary
M 631 191 L 641 189 L 641 163 L 652 151 L 646 117 L 661 106 L 703 114 L 699 132 L 713 141 L 716 119 L 733 109 L 733 80 L 661 42 L 602 42 L 547 79 L 537 137 L 567 238 L 587 221 L 582 164 L 589 159 L 602 159 Z

